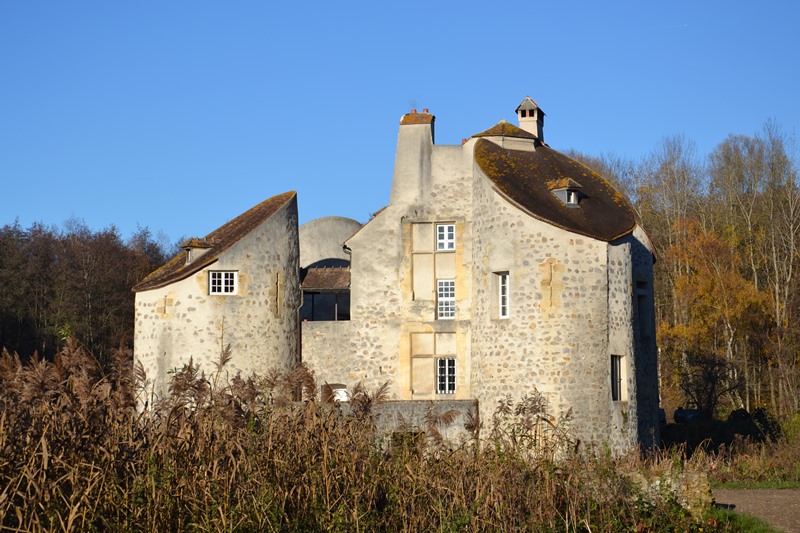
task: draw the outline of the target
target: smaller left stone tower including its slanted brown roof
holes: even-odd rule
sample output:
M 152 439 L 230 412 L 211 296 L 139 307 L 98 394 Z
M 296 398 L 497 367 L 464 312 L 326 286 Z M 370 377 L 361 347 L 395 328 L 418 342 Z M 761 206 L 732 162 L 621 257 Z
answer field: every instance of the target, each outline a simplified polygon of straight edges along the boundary
M 229 372 L 292 368 L 298 357 L 297 196 L 274 196 L 183 251 L 133 290 L 134 358 L 149 390 L 189 362 L 213 372 L 231 346 Z

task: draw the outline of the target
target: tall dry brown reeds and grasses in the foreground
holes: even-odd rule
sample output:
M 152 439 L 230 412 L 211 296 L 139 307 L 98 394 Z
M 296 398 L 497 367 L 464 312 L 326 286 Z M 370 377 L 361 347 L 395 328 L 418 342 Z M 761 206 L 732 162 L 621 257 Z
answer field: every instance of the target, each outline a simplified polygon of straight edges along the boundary
M 392 445 L 380 391 L 344 415 L 302 367 L 228 382 L 190 363 L 140 412 L 131 365 L 117 351 L 103 373 L 74 341 L 53 362 L 3 353 L 4 530 L 735 530 L 693 463 L 583 449 L 536 393 L 501 402 L 480 446 Z

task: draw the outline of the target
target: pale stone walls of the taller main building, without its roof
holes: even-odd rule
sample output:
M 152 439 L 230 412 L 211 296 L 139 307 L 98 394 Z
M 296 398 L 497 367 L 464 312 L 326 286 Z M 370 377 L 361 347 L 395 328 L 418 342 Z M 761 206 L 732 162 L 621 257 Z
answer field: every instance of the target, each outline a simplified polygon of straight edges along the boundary
M 536 389 L 553 415 L 571 414 L 584 442 L 621 451 L 652 434 L 655 345 L 640 335 L 635 309 L 642 283 L 652 298 L 643 232 L 609 244 L 542 222 L 493 189 L 473 161 L 474 140 L 431 142 L 428 126 L 400 128 L 391 204 L 347 242 L 351 321 L 304 329 L 304 359 L 318 378 L 371 390 L 388 380 L 398 400 L 476 400 L 485 420 L 499 399 Z M 429 253 L 415 242 L 431 234 L 420 228 L 437 223 L 455 226 L 455 250 L 416 262 Z M 435 294 L 415 283 L 421 274 L 435 281 L 440 267 L 455 279 L 453 320 L 437 319 Z M 510 280 L 507 318 L 498 312 L 500 273 Z M 433 374 L 439 354 L 431 349 L 426 363 L 415 342 L 439 338 L 457 361 L 453 395 L 419 388 L 413 378 Z M 620 401 L 611 396 L 612 354 L 623 362 Z

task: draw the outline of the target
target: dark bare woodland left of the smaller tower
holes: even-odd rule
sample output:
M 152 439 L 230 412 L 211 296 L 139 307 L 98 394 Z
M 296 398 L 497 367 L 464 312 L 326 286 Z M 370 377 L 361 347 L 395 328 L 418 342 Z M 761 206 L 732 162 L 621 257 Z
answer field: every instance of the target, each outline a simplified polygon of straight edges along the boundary
M 131 287 L 172 250 L 149 229 L 125 241 L 114 228 L 80 220 L 63 229 L 19 222 L 0 228 L 0 348 L 51 358 L 73 337 L 107 367 L 133 342 Z

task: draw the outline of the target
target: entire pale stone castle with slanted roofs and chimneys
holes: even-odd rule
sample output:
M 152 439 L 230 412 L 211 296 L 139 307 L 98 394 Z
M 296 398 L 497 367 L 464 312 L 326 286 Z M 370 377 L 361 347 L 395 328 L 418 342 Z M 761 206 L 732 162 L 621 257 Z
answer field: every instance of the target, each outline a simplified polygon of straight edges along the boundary
M 212 254 L 197 264 L 190 241 L 173 260 L 180 267 L 135 288 L 136 357 L 163 382 L 198 343 L 203 357 L 218 350 L 224 331 L 243 359 L 236 370 L 258 371 L 292 359 L 299 327 L 302 360 L 339 398 L 357 382 L 389 381 L 396 400 L 477 401 L 488 416 L 498 399 L 536 389 L 555 414 L 572 411 L 584 441 L 652 443 L 652 247 L 622 194 L 545 144 L 533 100 L 516 113 L 519 126 L 503 121 L 456 146 L 434 143 L 427 110 L 403 116 L 389 205 L 363 226 L 338 217 L 305 224 L 299 263 L 293 196 L 249 225 L 261 241 L 223 226 L 196 243 Z M 236 242 L 214 248 L 217 232 Z M 245 252 L 253 246 L 286 251 Z M 250 269 L 262 261 L 269 274 L 256 283 Z M 238 272 L 237 294 L 209 294 L 219 271 Z M 270 314 L 276 286 L 289 305 Z M 251 287 L 258 297 L 247 301 Z M 259 339 L 264 328 L 283 335 Z

